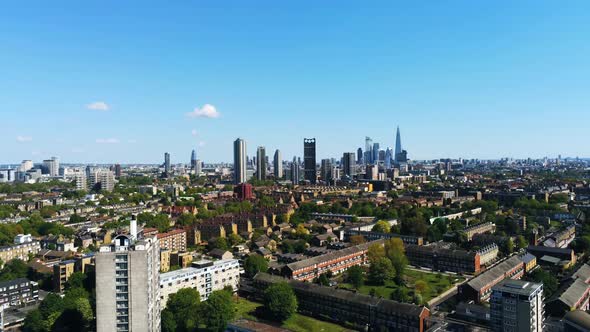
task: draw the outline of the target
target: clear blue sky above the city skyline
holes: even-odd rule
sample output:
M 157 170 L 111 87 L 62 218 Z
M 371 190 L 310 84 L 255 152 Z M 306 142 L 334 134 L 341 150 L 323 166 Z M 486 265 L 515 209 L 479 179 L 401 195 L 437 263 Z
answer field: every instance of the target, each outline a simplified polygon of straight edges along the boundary
M 412 159 L 590 157 L 587 1 L 1 7 L 0 164 L 339 157 L 397 125 Z

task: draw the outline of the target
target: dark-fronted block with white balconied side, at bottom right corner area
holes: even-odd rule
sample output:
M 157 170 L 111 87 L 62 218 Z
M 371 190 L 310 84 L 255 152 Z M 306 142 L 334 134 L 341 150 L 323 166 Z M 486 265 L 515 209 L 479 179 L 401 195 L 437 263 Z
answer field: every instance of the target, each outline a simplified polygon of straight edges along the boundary
M 543 331 L 543 284 L 507 279 L 492 287 L 492 330 Z

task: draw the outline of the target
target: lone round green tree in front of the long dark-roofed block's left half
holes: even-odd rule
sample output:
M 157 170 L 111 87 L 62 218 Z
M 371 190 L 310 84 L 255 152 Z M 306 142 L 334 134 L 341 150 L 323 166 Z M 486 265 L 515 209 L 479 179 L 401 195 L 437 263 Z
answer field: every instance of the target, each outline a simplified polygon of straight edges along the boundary
M 264 291 L 264 308 L 273 320 L 287 320 L 297 311 L 295 292 L 286 282 L 270 285 Z

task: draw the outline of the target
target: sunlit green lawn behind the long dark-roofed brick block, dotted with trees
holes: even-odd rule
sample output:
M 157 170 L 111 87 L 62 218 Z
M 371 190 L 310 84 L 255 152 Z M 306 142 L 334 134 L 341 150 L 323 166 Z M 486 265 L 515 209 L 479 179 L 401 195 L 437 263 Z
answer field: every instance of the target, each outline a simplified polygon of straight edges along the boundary
M 435 298 L 439 294 L 443 293 L 447 289 L 451 288 L 452 285 L 458 281 L 464 280 L 463 277 L 460 276 L 449 276 L 440 273 L 429 273 L 423 271 L 416 271 L 407 269 L 404 275 L 404 281 L 406 283 L 406 287 L 411 291 L 414 289 L 414 285 L 416 281 L 423 280 L 427 284 L 426 290 L 421 294 L 422 300 L 424 303 L 430 301 L 431 299 Z M 351 284 L 348 283 L 341 283 L 338 285 L 341 288 L 348 288 L 353 289 Z M 371 290 L 375 290 L 375 296 L 381 296 L 383 298 L 389 299 L 391 293 L 393 293 L 397 289 L 397 285 L 393 281 L 388 281 L 385 285 L 375 286 L 375 285 L 363 285 L 358 291 L 361 294 L 370 294 Z

